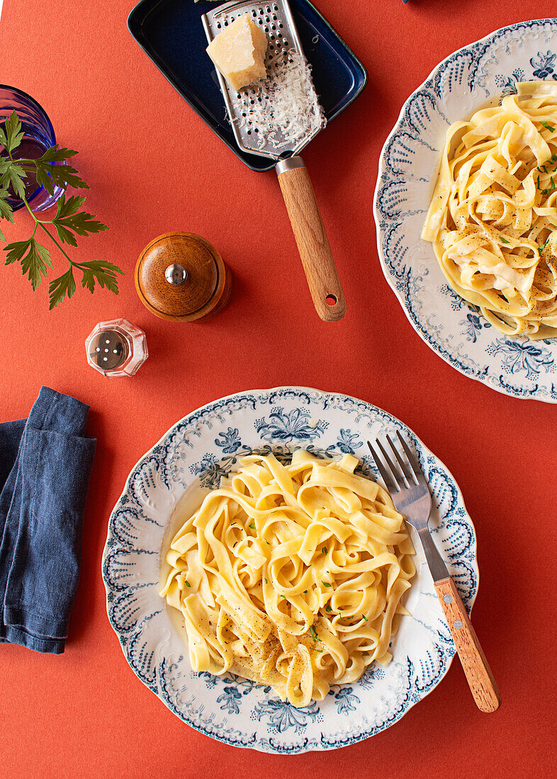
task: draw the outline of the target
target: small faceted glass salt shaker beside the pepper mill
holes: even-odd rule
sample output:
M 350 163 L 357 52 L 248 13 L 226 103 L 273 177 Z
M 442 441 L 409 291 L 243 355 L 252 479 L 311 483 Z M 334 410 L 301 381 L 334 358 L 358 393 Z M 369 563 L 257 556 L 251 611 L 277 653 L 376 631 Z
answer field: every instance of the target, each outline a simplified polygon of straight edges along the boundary
M 127 319 L 98 323 L 85 348 L 91 368 L 109 378 L 134 375 L 149 357 L 145 333 Z

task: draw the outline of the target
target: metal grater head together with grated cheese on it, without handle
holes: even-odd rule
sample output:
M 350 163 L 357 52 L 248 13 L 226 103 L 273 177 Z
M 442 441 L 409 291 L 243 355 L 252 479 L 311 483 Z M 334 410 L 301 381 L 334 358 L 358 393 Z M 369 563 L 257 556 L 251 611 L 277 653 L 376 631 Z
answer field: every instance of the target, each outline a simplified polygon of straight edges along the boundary
M 232 129 L 242 150 L 279 159 L 297 154 L 326 125 L 290 8 L 284 0 L 262 4 L 229 2 L 203 16 L 210 42 L 234 19 L 249 13 L 266 33 L 267 76 L 240 91 L 219 72 Z

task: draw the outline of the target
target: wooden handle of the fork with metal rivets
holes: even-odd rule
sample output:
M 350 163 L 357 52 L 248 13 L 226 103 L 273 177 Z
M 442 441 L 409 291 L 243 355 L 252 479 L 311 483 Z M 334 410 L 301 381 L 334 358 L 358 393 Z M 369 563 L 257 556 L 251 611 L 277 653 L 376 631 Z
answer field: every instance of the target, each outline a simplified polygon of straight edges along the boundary
M 501 705 L 499 689 L 485 659 L 478 636 L 450 576 L 435 582 L 435 591 L 445 612 L 449 630 L 478 709 L 495 711 Z

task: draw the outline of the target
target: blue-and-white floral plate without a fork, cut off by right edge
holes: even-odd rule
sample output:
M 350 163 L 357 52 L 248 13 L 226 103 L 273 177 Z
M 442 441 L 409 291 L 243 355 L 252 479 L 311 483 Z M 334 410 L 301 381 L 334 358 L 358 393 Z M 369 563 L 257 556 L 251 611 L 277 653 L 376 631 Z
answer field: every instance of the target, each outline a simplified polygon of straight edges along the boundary
M 450 289 L 420 238 L 449 125 L 534 79 L 557 80 L 557 19 L 504 27 L 447 57 L 408 98 L 383 146 L 374 215 L 383 273 L 425 343 L 494 390 L 557 403 L 557 339 L 494 330 Z

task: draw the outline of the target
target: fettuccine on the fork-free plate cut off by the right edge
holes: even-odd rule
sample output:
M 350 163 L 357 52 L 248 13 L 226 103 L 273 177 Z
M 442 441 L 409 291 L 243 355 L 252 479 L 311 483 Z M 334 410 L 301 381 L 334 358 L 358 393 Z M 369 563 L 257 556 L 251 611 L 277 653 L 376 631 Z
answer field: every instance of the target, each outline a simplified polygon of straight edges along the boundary
M 421 237 L 506 335 L 557 336 L 557 83 L 516 84 L 449 127 Z

